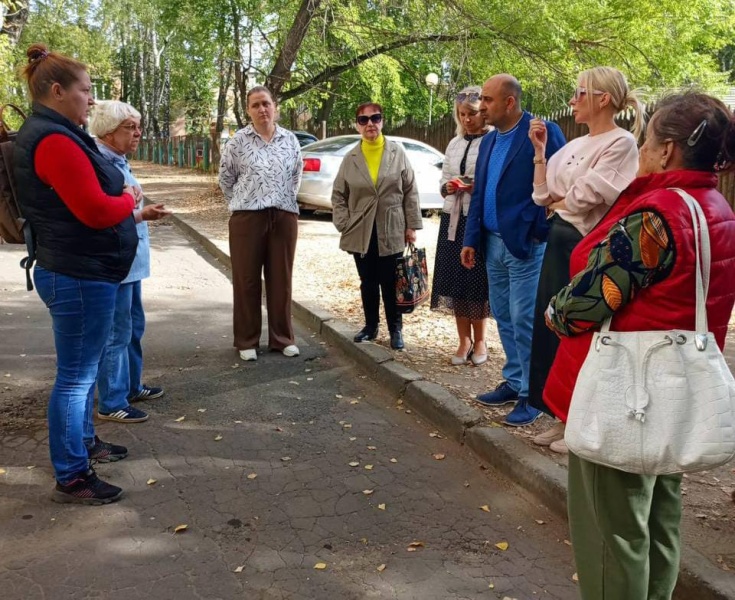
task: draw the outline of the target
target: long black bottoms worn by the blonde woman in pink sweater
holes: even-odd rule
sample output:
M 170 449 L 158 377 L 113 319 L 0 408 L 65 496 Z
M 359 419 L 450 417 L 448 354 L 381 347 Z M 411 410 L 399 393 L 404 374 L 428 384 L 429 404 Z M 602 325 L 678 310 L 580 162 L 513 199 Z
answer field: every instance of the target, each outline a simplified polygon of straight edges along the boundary
M 544 403 L 544 386 L 559 348 L 559 338 L 546 326 L 544 313 L 551 299 L 569 283 L 569 259 L 572 256 L 572 250 L 581 239 L 582 234 L 574 225 L 567 223 L 558 215 L 551 219 L 549 239 L 546 242 L 536 292 L 533 340 L 531 341 L 531 369 L 528 377 L 528 403 L 548 414 L 552 413 Z

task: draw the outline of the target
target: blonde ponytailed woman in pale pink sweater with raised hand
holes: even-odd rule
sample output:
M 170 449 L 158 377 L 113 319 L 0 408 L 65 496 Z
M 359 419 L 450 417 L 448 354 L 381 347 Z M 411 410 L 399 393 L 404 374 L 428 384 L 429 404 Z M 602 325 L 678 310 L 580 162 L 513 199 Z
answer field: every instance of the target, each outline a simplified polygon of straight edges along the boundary
M 533 200 L 546 206 L 549 238 L 541 267 L 531 346 L 529 403 L 551 414 L 543 401 L 544 385 L 559 345 L 546 327 L 544 311 L 552 296 L 569 283 L 569 257 L 577 243 L 599 223 L 638 170 L 637 137 L 643 129 L 640 102 L 625 76 L 612 67 L 595 67 L 580 73 L 569 100 L 576 123 L 589 129 L 554 154 L 546 163 L 546 127 L 531 121 L 528 135 L 535 150 Z M 615 116 L 632 109 L 634 134 L 618 127 Z M 564 424 L 556 423 L 534 442 L 566 453 Z

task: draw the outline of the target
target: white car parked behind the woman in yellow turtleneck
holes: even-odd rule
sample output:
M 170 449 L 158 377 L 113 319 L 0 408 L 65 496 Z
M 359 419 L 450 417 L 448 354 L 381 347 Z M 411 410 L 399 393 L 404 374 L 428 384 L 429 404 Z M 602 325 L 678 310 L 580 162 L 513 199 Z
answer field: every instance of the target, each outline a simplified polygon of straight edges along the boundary
M 386 136 L 400 143 L 413 167 L 419 188 L 422 211 L 441 209 L 444 199 L 439 193 L 444 155 L 428 144 L 408 138 Z M 332 210 L 332 185 L 345 155 L 360 141 L 359 135 L 338 135 L 302 148 L 304 172 L 297 195 L 305 211 Z

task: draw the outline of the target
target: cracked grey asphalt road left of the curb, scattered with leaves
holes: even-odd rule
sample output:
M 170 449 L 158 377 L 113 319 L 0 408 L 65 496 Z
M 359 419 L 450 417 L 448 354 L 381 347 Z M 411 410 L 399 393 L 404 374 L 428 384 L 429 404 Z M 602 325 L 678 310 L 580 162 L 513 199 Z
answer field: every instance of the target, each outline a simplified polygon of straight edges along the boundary
M 563 521 L 298 323 L 298 358 L 240 361 L 227 277 L 151 233 L 145 381 L 166 395 L 98 423 L 129 449 L 95 467 L 126 493 L 103 507 L 49 500 L 50 320 L 0 246 L 3 600 L 577 597 Z

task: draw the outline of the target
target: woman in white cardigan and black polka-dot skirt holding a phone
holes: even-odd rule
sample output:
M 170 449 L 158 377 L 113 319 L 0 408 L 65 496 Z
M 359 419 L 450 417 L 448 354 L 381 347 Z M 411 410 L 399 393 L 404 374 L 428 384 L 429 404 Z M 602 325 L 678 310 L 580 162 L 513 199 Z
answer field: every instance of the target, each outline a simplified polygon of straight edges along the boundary
M 490 315 L 487 273 L 479 263 L 465 269 L 460 262 L 467 211 L 472 196 L 475 162 L 482 136 L 488 132 L 480 114 L 481 88 L 464 88 L 454 102 L 457 135 L 447 146 L 442 169 L 444 208 L 436 245 L 431 308 L 454 314 L 459 346 L 453 365 L 487 362 L 485 326 Z

